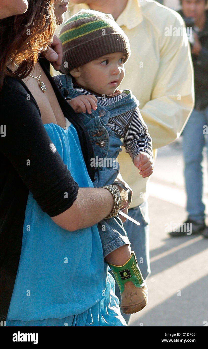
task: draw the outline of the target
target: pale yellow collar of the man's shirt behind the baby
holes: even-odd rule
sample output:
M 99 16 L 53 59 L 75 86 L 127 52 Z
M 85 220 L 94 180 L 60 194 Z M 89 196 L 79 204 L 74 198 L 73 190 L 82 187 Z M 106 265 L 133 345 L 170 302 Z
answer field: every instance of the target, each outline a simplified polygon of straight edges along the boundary
M 143 16 L 141 12 L 140 0 L 128 0 L 125 9 L 120 14 L 120 16 L 118 16 L 116 22 L 120 27 L 122 27 L 122 25 L 125 25 L 127 29 L 132 29 L 140 24 L 142 20 Z

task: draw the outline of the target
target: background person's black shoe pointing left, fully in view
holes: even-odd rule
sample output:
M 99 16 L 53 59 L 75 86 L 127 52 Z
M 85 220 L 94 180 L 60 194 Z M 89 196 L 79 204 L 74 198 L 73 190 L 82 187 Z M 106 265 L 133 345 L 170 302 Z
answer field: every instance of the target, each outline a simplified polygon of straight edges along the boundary
M 170 231 L 169 235 L 171 237 L 196 235 L 201 234 L 205 228 L 206 225 L 204 220 L 201 222 L 196 222 L 191 219 L 187 219 L 187 221 L 178 226 L 176 231 Z

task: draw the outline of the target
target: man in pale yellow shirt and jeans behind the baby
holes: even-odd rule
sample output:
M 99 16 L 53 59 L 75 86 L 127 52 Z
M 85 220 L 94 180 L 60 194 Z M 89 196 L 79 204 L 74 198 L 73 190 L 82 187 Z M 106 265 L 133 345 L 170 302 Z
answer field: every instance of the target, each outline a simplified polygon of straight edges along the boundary
M 70 1 L 70 15 L 81 8 L 111 13 L 127 34 L 131 57 L 125 65 L 126 75 L 119 88 L 132 90 L 140 101 L 153 149 L 174 141 L 182 132 L 194 104 L 191 53 L 180 15 L 151 0 Z M 136 226 L 126 221 L 124 227 L 146 278 L 150 273 L 149 178 L 139 175 L 125 151 L 120 153 L 118 160 L 123 179 L 133 189 L 128 215 L 141 223 Z M 128 319 L 128 315 L 124 317 Z

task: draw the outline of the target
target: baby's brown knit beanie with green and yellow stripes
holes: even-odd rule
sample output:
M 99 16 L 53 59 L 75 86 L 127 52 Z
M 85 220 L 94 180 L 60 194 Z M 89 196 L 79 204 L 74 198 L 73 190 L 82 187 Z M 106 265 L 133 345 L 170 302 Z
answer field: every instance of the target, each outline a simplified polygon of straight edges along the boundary
M 61 29 L 63 59 L 60 71 L 70 70 L 103 55 L 122 52 L 130 56 L 127 36 L 110 14 L 94 10 L 80 10 L 69 18 Z

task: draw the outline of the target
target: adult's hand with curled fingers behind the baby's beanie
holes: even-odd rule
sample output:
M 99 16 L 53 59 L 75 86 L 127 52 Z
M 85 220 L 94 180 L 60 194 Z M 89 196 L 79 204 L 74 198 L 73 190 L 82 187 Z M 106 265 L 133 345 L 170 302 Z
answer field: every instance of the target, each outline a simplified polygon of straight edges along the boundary
M 63 57 L 61 40 L 54 35 L 51 46 L 48 47 L 46 51 L 43 51 L 42 54 L 48 61 L 51 62 L 55 70 L 59 70 Z

